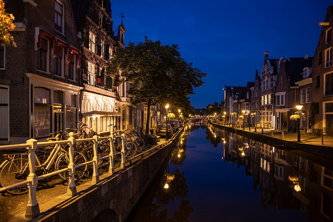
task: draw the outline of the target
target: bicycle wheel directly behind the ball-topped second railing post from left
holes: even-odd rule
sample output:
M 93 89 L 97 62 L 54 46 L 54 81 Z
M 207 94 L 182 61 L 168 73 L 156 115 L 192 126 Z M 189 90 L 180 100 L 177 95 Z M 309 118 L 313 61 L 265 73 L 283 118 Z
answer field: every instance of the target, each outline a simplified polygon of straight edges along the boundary
M 84 162 L 88 162 L 87 157 L 79 151 L 74 151 L 74 165 L 78 165 Z M 64 168 L 67 168 L 69 164 L 69 154 L 68 153 L 62 153 L 56 160 L 56 170 L 61 170 Z M 87 171 L 88 165 L 75 167 L 75 179 L 81 179 L 84 176 L 84 173 Z M 66 171 L 67 172 L 67 171 Z M 58 173 L 59 177 L 63 180 L 67 180 L 66 172 Z

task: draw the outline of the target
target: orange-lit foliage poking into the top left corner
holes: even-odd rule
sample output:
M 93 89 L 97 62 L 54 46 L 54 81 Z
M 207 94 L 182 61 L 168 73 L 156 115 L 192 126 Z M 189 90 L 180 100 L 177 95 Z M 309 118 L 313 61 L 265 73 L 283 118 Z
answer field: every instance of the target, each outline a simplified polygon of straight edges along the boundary
M 12 45 L 16 47 L 13 36 L 9 31 L 15 29 L 13 14 L 8 14 L 5 11 L 5 3 L 0 0 L 0 45 Z

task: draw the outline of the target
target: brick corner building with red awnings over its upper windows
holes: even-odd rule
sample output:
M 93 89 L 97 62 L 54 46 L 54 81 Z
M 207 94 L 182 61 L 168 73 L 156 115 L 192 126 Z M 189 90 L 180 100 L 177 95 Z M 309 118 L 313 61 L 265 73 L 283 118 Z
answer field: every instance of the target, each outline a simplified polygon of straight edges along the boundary
M 11 0 L 5 9 L 15 17 L 17 47 L 0 47 L 0 142 L 76 128 L 81 52 L 70 0 Z

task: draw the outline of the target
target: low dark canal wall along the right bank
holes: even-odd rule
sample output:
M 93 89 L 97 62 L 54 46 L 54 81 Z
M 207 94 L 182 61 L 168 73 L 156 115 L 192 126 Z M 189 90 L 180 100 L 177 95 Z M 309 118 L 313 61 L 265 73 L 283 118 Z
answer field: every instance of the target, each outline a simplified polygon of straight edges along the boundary
M 255 139 L 259 142 L 276 143 L 276 144 L 279 144 L 279 145 L 287 146 L 288 148 L 291 148 L 291 149 L 294 148 L 294 149 L 302 150 L 302 151 L 305 151 L 305 152 L 308 152 L 308 153 L 311 153 L 311 154 L 315 154 L 315 155 L 319 155 L 319 156 L 322 156 L 322 157 L 333 159 L 333 147 L 288 141 L 288 140 L 284 140 L 284 139 L 264 135 L 264 134 L 261 134 L 261 133 L 248 132 L 248 131 L 245 131 L 245 130 L 242 130 L 242 129 L 235 129 L 235 128 L 232 128 L 232 127 L 212 123 L 210 121 L 208 121 L 208 122 L 210 124 L 212 124 L 213 126 L 216 126 L 218 128 L 221 128 L 221 129 L 224 129 L 224 130 L 227 130 L 229 132 L 233 132 L 233 133 L 236 133 L 236 134 L 239 134 L 239 135 L 243 135 L 243 136 L 246 136 L 246 137 L 251 138 L 251 139 Z

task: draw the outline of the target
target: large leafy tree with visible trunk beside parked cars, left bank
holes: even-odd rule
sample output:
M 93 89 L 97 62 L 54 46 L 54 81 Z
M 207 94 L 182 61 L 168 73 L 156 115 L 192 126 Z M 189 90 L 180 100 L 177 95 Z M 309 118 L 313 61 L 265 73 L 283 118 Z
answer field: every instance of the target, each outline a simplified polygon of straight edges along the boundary
M 188 95 L 193 87 L 199 87 L 205 77 L 180 57 L 177 45 L 162 45 L 160 41 L 130 43 L 126 48 L 117 48 L 106 67 L 106 75 L 114 78 L 114 86 L 130 82 L 127 93 L 131 105 L 145 103 L 148 107 L 146 134 L 149 130 L 150 107 L 169 104 L 184 114 L 192 110 Z

